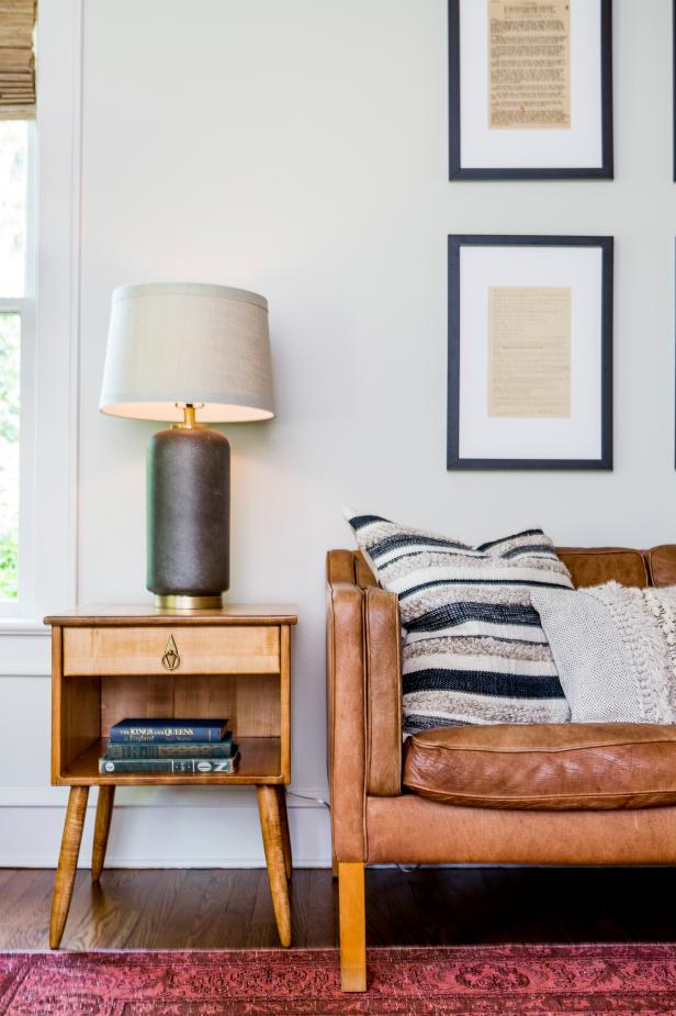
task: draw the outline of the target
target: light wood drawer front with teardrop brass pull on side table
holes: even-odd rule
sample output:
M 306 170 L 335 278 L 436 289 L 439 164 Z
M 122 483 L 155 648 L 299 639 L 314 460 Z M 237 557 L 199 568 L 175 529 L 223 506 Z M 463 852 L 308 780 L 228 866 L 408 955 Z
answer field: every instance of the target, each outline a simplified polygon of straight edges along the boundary
M 65 628 L 64 674 L 278 673 L 280 629 Z

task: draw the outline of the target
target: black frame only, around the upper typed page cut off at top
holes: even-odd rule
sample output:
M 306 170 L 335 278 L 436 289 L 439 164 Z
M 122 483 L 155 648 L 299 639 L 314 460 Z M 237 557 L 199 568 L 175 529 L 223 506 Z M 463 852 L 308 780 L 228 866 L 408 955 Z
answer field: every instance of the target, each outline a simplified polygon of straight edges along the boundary
M 485 0 L 475 0 L 485 2 Z M 676 5 L 676 0 L 674 0 Z M 579 168 L 463 167 L 460 116 L 460 0 L 449 0 L 449 179 L 450 180 L 612 180 L 612 0 L 600 0 L 601 165 Z M 675 153 L 676 179 L 676 153 Z

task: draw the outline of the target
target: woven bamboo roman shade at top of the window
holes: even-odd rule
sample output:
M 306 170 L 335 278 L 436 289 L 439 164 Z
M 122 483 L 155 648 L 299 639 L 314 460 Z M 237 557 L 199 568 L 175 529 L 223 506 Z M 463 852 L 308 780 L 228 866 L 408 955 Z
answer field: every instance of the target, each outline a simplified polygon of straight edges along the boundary
M 36 0 L 0 0 L 0 120 L 35 116 Z

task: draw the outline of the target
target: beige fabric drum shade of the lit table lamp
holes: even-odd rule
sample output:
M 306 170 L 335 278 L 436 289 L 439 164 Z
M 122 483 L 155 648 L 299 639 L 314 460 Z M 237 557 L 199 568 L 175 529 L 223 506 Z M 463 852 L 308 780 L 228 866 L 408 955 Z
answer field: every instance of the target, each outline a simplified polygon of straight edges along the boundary
M 274 416 L 268 301 L 227 286 L 162 282 L 113 292 L 99 407 L 204 423 Z

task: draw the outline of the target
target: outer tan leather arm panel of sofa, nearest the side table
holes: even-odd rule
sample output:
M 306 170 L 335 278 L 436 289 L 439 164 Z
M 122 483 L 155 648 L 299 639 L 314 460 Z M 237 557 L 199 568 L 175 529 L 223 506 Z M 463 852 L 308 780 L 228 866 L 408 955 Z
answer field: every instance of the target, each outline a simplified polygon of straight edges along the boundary
M 338 861 L 364 861 L 367 689 L 363 591 L 354 584 L 352 555 L 327 558 L 326 668 L 331 836 Z

